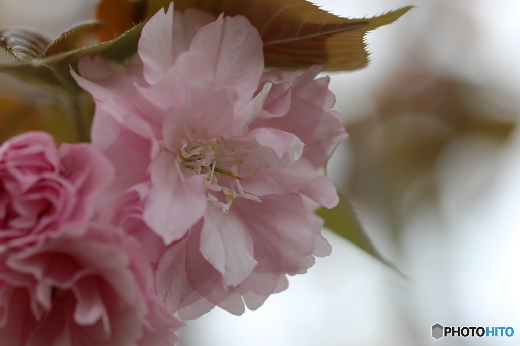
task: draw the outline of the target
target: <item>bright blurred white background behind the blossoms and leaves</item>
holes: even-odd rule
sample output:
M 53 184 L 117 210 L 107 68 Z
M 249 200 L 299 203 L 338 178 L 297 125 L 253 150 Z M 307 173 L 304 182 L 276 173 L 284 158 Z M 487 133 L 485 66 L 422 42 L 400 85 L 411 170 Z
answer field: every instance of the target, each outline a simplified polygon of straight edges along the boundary
M 94 0 L 2 0 L 0 27 L 30 25 L 57 35 L 92 15 Z M 320 0 L 335 14 L 360 18 L 405 5 L 417 8 L 367 36 L 367 69 L 334 73 L 331 89 L 347 125 L 374 112 L 396 71 L 419 60 L 430 77 L 451 76 L 490 87 L 517 116 L 520 100 L 518 0 Z M 433 77 L 432 77 L 433 76 Z M 495 113 L 493 113 L 495 114 Z M 503 114 L 496 112 L 500 118 Z M 509 115 L 511 118 L 511 114 Z M 511 119 L 508 120 L 511 123 Z M 516 120 L 514 119 L 514 122 Z M 257 311 L 215 309 L 181 330 L 182 346 L 419 346 L 520 344 L 520 136 L 503 141 L 468 133 L 449 142 L 432 170 L 435 202 L 408 208 L 398 241 L 381 211 L 354 203 L 381 252 L 408 278 L 335 234 L 330 257 L 318 259 L 290 288 Z M 354 147 L 329 163 L 346 191 Z M 431 326 L 511 326 L 511 338 L 436 341 Z

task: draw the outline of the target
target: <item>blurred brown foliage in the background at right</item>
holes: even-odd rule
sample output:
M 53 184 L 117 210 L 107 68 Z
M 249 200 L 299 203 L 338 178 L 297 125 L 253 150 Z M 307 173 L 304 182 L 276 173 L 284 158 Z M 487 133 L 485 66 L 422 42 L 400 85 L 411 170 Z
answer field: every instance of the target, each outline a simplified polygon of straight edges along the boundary
M 398 232 L 409 211 L 436 196 L 434 170 L 456 140 L 504 141 L 516 117 L 498 90 L 408 64 L 375 97 L 373 114 L 348 126 L 354 151 L 349 193 L 384 210 Z M 491 97 L 493 96 L 493 97 Z

